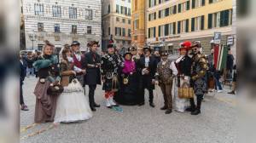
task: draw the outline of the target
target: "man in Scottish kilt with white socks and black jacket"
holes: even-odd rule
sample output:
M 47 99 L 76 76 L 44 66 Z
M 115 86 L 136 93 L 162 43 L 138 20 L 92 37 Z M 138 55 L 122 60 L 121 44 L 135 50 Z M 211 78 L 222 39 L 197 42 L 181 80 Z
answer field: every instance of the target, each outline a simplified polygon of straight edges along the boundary
M 108 54 L 102 56 L 102 81 L 105 90 L 106 106 L 117 106 L 113 101 L 113 95 L 119 90 L 118 73 L 122 60 L 115 54 L 113 43 L 108 44 Z

